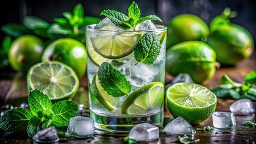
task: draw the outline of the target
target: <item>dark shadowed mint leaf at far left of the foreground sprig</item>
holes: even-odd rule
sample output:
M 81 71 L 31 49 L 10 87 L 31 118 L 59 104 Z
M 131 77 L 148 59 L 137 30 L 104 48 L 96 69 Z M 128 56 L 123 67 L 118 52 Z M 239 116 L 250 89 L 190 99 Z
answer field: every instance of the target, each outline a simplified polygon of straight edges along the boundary
M 5 131 L 24 131 L 32 116 L 32 113 L 24 108 L 8 110 L 0 118 L 0 128 Z

